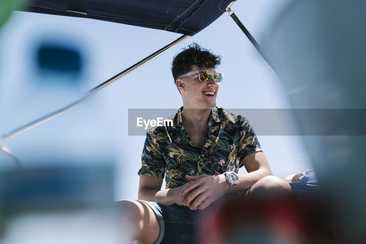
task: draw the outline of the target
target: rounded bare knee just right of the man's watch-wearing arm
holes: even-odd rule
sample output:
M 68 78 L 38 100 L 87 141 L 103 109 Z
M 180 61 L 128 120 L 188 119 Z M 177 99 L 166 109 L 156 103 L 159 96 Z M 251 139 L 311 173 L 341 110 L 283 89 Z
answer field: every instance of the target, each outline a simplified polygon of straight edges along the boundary
M 283 179 L 268 175 L 257 181 L 247 195 L 264 197 L 282 197 L 292 195 L 290 184 Z

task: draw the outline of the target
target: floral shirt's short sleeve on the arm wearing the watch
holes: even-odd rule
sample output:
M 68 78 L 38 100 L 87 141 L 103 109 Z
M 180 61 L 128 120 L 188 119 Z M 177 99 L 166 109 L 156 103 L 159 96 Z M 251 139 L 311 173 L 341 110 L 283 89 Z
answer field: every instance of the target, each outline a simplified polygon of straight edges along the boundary
M 243 158 L 252 154 L 253 152 L 262 152 L 261 145 L 259 144 L 257 135 L 255 134 L 253 127 L 246 118 L 241 121 L 240 127 L 240 140 L 239 140 L 239 168 L 243 166 Z

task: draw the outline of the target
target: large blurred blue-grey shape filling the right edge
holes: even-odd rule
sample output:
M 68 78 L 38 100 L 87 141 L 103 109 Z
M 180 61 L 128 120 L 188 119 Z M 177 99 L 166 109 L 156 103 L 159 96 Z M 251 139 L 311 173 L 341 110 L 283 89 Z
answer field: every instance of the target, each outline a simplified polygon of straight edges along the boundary
M 294 1 L 279 15 L 266 49 L 294 108 L 366 107 L 365 12 L 362 0 L 309 0 Z M 305 116 L 297 119 L 300 129 L 314 123 Z M 349 124 L 339 124 L 339 130 L 359 135 Z M 337 223 L 337 241 L 365 241 L 366 137 L 319 135 L 304 140 Z

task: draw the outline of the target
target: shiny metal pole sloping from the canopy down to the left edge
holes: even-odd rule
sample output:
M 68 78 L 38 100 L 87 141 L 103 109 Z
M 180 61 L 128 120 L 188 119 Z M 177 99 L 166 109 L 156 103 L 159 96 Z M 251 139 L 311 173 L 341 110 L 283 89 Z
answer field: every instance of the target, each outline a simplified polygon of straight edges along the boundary
M 11 132 L 5 133 L 1 136 L 0 142 L 1 141 L 5 141 L 8 140 L 9 138 L 20 134 L 26 130 L 29 130 L 30 128 L 40 125 L 41 123 L 48 121 L 52 118 L 55 118 L 61 114 L 63 114 L 64 112 L 67 112 L 68 110 L 71 110 L 72 108 L 78 106 L 79 104 L 81 104 L 83 101 L 85 101 L 88 97 L 93 96 L 95 93 L 99 92 L 100 90 L 106 88 L 107 86 L 113 84 L 114 82 L 116 82 L 117 80 L 119 80 L 120 78 L 124 77 L 127 74 L 130 74 L 132 71 L 138 69 L 139 67 L 143 66 L 144 64 L 146 64 L 147 62 L 153 60 L 154 58 L 156 58 L 157 56 L 160 56 L 162 53 L 168 51 L 169 49 L 175 47 L 176 45 L 178 45 L 179 43 L 185 41 L 186 39 L 188 39 L 190 36 L 188 35 L 183 35 L 181 37 L 179 37 L 178 39 L 176 39 L 175 41 L 169 43 L 168 45 L 166 45 L 165 47 L 159 49 L 158 51 L 154 52 L 152 55 L 147 56 L 145 59 L 142 59 L 141 61 L 139 61 L 138 63 L 132 65 L 131 67 L 127 68 L 126 70 L 123 70 L 121 73 L 115 75 L 114 77 L 110 78 L 109 80 L 103 82 L 102 84 L 94 87 L 93 89 L 89 90 L 88 92 L 85 93 L 85 95 L 75 101 L 74 103 L 69 104 L 66 107 L 63 107 L 55 112 L 52 112 L 51 114 L 45 115 L 44 117 L 41 117 L 39 119 L 36 119 L 30 123 L 27 123 L 26 125 L 23 125 L 21 127 L 19 127 L 18 129 L 15 129 Z

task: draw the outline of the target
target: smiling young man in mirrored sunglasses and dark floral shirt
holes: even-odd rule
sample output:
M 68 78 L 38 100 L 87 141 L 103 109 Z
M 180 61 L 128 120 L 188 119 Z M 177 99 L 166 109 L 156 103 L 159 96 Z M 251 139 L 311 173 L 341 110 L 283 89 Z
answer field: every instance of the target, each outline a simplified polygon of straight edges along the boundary
M 198 243 L 195 234 L 205 234 L 204 211 L 227 192 L 291 195 L 291 186 L 272 175 L 247 119 L 216 107 L 220 62 L 195 43 L 173 60 L 183 107 L 169 118 L 173 126 L 147 132 L 139 200 L 119 202 L 135 243 Z M 248 174 L 237 173 L 242 166 Z M 164 173 L 166 189 L 160 190 Z

